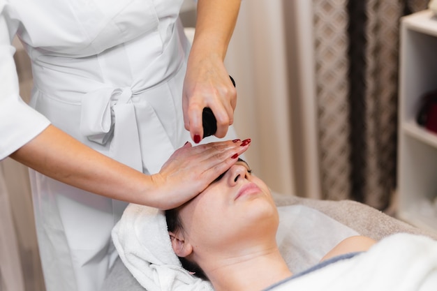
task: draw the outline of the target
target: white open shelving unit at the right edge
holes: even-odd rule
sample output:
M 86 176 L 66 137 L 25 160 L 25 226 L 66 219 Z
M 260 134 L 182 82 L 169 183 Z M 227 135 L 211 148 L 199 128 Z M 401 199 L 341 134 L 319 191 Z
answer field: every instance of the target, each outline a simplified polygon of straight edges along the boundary
M 437 17 L 431 10 L 402 18 L 400 45 L 398 216 L 437 232 L 437 134 L 415 121 L 420 98 L 437 89 Z

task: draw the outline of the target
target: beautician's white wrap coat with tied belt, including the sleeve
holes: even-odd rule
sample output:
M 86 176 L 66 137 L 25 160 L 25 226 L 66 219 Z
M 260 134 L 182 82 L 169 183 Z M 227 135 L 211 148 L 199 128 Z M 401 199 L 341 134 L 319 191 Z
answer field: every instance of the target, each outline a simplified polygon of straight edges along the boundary
M 52 123 L 137 170 L 158 172 L 190 139 L 182 1 L 0 0 L 0 158 Z M 15 33 L 31 57 L 31 107 L 39 113 L 18 93 Z M 110 231 L 126 203 L 30 176 L 47 291 L 98 290 L 117 257 Z

